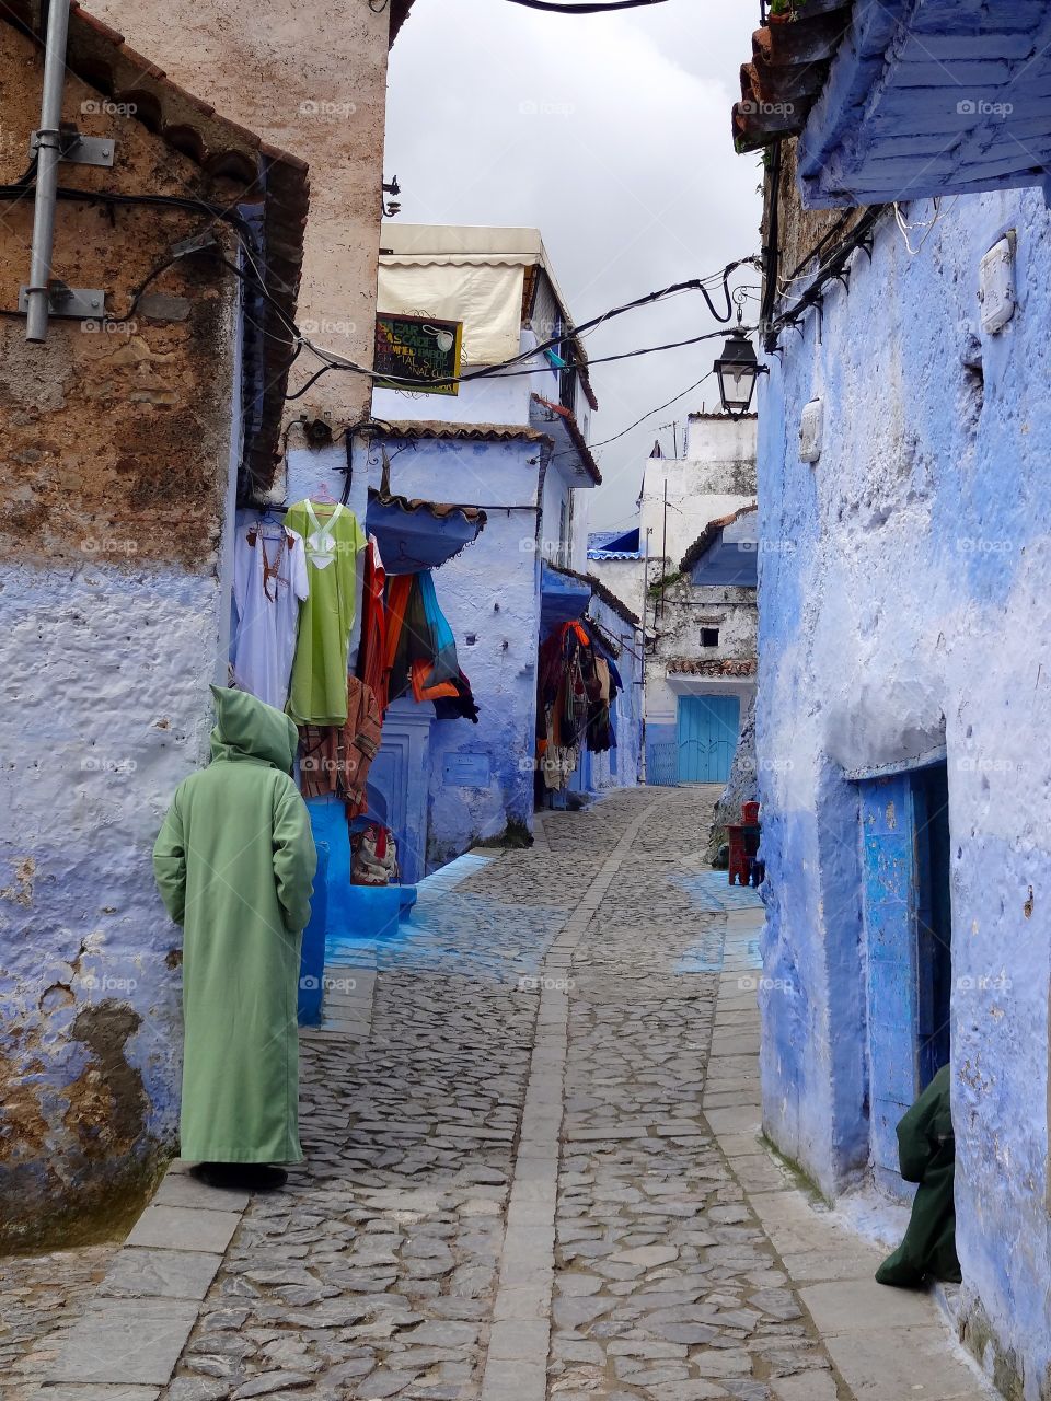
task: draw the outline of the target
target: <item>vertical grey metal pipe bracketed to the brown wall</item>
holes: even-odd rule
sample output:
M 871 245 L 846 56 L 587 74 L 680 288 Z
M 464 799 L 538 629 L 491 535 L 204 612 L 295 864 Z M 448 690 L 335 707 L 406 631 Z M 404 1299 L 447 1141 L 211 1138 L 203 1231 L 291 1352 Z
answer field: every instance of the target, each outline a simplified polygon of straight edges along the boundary
M 43 94 L 41 97 L 41 129 L 36 134 L 36 188 L 32 216 L 32 251 L 29 254 L 29 286 L 25 298 L 25 339 L 48 339 L 50 310 L 48 280 L 55 244 L 56 191 L 62 161 L 62 92 L 66 83 L 66 38 L 69 34 L 69 0 L 50 0 L 48 8 L 48 42 L 43 55 Z

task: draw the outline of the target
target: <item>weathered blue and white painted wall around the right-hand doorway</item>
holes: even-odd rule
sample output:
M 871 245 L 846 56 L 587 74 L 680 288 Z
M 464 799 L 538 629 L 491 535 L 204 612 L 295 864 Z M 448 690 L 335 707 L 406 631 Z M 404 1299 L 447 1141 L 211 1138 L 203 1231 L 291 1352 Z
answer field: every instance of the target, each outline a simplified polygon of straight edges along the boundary
M 761 384 L 764 1115 L 827 1191 L 870 1168 L 883 1070 L 846 775 L 944 743 L 963 1309 L 1015 1349 L 1029 1401 L 1051 1362 L 1051 220 L 1037 191 L 940 216 L 916 256 L 884 221 Z M 1020 304 L 985 335 L 978 263 L 1006 228 Z

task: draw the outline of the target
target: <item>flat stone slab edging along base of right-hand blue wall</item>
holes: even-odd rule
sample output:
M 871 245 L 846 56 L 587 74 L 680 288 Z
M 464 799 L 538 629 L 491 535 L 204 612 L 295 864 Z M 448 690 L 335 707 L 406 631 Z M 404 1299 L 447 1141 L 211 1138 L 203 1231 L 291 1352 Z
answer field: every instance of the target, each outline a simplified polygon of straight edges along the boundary
M 922 1401 L 1002 1401 L 949 1332 L 944 1296 L 877 1285 L 874 1274 L 887 1254 L 883 1245 L 858 1234 L 849 1210 L 828 1209 L 803 1191 L 761 1138 L 760 1012 L 743 974 L 751 967 L 748 946 L 761 923 L 758 912 L 727 916 L 706 1083 L 729 1082 L 743 1056 L 754 1059 L 755 1073 L 741 1077 L 744 1089 L 734 1103 L 715 1087 L 706 1089 L 702 1101 L 730 1171 L 851 1395 L 865 1401 L 914 1395 Z M 886 1234 L 891 1219 L 901 1217 L 883 1213 L 879 1234 Z M 837 1401 L 841 1395 L 835 1377 L 816 1373 L 778 1379 L 774 1388 L 778 1401 Z

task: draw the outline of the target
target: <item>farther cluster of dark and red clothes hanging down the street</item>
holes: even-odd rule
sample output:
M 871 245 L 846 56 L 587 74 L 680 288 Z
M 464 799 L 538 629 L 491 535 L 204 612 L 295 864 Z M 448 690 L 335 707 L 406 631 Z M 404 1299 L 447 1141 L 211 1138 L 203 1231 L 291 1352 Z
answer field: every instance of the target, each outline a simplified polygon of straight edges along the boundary
M 568 786 L 582 748 L 617 747 L 614 705 L 624 689 L 600 632 L 587 618 L 555 628 L 540 649 L 537 757 L 549 792 Z

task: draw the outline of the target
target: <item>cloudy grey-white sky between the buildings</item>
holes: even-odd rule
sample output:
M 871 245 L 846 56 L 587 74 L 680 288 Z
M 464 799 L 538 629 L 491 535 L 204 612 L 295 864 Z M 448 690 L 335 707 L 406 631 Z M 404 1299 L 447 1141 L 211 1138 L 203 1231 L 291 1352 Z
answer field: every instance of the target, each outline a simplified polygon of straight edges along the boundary
M 758 4 L 740 0 L 611 15 L 416 0 L 391 57 L 387 175 L 402 186 L 399 219 L 540 228 L 577 321 L 758 252 L 758 160 L 736 156 L 729 134 L 757 24 Z M 594 359 L 715 329 L 688 293 L 629 312 L 587 347 Z M 597 366 L 591 441 L 694 384 L 720 345 Z M 596 451 L 605 485 L 593 528 L 629 523 L 654 439 L 671 453 L 661 426 L 716 401 L 708 380 Z

